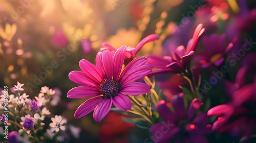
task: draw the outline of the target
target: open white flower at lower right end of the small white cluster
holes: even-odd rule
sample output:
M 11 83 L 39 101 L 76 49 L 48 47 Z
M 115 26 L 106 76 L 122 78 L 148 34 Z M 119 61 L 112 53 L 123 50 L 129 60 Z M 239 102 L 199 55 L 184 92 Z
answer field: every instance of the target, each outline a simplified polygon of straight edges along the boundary
M 50 123 L 50 127 L 52 127 L 52 129 L 50 129 L 51 132 L 58 132 L 59 129 L 64 131 L 65 127 L 63 126 L 63 124 L 67 123 L 67 120 L 63 119 L 62 117 L 59 115 L 55 115 L 55 117 L 51 118 L 53 123 Z

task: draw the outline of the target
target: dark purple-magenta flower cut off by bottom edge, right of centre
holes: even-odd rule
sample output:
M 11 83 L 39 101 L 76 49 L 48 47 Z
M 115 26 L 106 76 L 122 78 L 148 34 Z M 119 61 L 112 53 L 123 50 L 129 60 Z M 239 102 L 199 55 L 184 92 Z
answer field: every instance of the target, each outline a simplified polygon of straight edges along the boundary
M 184 94 L 180 93 L 173 97 L 172 108 L 175 112 L 171 111 L 164 101 L 157 104 L 157 111 L 166 123 L 158 123 L 150 128 L 150 132 L 154 133 L 154 142 L 181 142 L 182 139 L 184 142 L 208 142 L 204 134 L 212 131 L 207 115 L 201 112 L 193 117 L 203 103 L 194 99 L 186 111 L 183 96 Z

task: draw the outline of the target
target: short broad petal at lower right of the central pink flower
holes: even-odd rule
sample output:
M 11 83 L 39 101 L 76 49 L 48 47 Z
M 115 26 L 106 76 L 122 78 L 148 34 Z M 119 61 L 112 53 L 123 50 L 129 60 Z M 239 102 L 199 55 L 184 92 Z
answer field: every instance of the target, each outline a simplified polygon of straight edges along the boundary
M 115 97 L 112 98 L 113 104 L 122 111 L 127 111 L 132 109 L 132 102 L 131 100 L 124 96 L 121 93 L 118 93 Z

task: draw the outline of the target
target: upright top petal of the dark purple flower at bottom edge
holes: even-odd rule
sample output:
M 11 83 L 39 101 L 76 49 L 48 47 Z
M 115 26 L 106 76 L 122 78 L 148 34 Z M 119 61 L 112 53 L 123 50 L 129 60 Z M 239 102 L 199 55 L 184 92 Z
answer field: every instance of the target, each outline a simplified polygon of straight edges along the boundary
M 184 94 L 180 93 L 179 95 L 175 95 L 172 98 L 172 106 L 175 110 L 175 113 L 181 118 L 186 117 L 186 110 L 184 106 L 183 96 Z

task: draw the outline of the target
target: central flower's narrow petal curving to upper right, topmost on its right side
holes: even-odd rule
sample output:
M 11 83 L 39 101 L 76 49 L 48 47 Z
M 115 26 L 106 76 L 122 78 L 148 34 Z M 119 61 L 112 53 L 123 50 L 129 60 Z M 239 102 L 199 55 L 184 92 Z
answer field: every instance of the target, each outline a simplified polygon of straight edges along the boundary
M 123 69 L 119 79 L 122 78 L 129 70 L 144 65 L 146 63 L 146 61 L 147 61 L 146 57 L 140 57 L 140 58 L 132 60 L 129 64 L 127 64 L 125 66 L 125 68 Z

